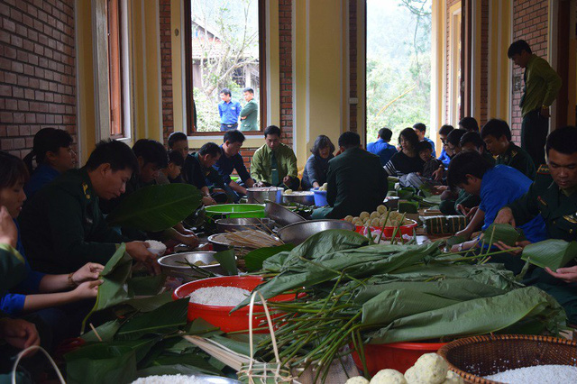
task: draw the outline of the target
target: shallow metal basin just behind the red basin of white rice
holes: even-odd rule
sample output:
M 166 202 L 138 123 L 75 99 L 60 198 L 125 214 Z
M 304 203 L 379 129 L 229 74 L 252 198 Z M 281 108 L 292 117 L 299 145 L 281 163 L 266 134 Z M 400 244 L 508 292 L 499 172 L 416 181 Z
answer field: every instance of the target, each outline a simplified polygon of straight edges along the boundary
M 188 261 L 194 264 L 197 261 L 202 261 L 206 265 L 199 266 L 203 270 L 218 274 L 226 274 L 226 271 L 221 268 L 220 264 L 210 264 L 216 261 L 215 251 L 202 251 L 202 252 L 184 252 L 184 253 L 174 253 L 167 256 L 163 256 L 159 259 L 160 269 L 162 273 L 173 276 L 175 278 L 181 278 L 185 281 L 191 281 L 197 278 L 206 278 L 206 276 L 201 276 L 193 271 L 188 265 L 182 264 L 179 261 Z

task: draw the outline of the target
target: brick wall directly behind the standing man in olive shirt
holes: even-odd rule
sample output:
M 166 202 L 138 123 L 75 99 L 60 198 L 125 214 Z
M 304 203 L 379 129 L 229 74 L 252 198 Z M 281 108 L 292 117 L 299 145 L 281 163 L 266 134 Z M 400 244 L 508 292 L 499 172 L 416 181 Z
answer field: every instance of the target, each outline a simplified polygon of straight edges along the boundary
M 547 0 L 514 0 L 513 2 L 513 41 L 523 39 L 529 43 L 531 50 L 537 56 L 547 57 L 547 18 L 548 18 L 548 1 Z M 513 67 L 513 79 L 523 79 L 523 69 L 517 66 Z M 515 84 L 515 83 L 513 83 Z M 523 87 L 519 90 L 513 88 L 513 97 L 511 105 L 511 132 L 513 141 L 520 143 L 521 133 L 521 108 L 519 101 Z

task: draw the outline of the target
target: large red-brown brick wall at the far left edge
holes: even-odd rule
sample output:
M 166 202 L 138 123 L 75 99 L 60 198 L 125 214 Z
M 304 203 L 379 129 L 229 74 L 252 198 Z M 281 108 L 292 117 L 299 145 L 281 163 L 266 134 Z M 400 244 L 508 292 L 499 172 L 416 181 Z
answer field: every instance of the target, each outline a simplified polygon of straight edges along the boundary
M 41 128 L 76 145 L 74 0 L 0 0 L 0 149 L 23 157 Z

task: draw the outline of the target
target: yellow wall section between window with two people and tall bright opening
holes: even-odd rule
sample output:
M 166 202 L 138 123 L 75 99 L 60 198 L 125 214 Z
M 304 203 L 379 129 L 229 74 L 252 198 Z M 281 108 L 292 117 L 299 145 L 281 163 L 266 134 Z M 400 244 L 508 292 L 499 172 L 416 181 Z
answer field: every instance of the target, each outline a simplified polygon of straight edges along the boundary
M 319 134 L 334 142 L 345 130 L 343 123 L 344 85 L 343 1 L 314 0 L 296 2 L 295 127 L 299 167 L 307 161 L 309 150 Z M 308 41 L 307 41 L 308 39 Z M 348 106 L 347 106 L 348 107 Z

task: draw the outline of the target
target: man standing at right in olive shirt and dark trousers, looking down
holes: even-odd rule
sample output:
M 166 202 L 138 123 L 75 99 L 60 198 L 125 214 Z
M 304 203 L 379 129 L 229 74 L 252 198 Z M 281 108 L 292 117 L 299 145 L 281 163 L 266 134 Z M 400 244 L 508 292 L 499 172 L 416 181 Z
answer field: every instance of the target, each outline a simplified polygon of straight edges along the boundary
M 521 148 L 529 153 L 536 168 L 545 163 L 545 139 L 549 131 L 549 107 L 561 88 L 561 78 L 549 63 L 533 54 L 527 41 L 508 47 L 508 58 L 522 69 L 525 87 L 521 96 Z

